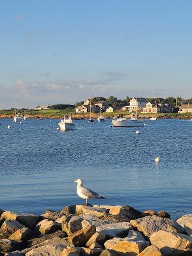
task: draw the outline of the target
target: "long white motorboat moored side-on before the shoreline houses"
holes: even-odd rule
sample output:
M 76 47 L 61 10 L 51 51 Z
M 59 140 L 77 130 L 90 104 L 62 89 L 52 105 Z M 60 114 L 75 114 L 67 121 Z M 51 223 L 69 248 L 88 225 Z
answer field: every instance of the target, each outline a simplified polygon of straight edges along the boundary
M 114 127 L 137 127 L 144 126 L 143 120 L 138 119 L 127 119 L 125 117 L 117 118 L 116 120 L 112 120 L 112 124 Z

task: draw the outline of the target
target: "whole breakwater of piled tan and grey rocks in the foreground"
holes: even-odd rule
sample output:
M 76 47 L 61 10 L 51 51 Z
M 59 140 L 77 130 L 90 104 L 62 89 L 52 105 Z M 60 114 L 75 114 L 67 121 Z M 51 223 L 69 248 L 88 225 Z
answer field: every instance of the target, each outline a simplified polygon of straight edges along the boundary
M 40 216 L 0 209 L 0 255 L 191 256 L 192 214 L 173 221 L 129 205 L 68 205 Z

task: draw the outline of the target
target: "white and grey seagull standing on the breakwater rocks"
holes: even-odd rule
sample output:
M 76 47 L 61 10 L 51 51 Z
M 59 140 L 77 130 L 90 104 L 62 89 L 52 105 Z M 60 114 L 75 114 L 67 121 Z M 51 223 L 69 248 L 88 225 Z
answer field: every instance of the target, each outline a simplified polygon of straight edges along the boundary
M 81 198 L 85 199 L 85 205 L 87 205 L 88 199 L 92 199 L 92 198 L 100 198 L 100 199 L 103 198 L 104 199 L 105 198 L 105 197 L 98 195 L 96 192 L 94 192 L 88 188 L 84 188 L 82 186 L 83 180 L 77 179 L 74 182 L 77 182 L 77 195 L 80 196 Z

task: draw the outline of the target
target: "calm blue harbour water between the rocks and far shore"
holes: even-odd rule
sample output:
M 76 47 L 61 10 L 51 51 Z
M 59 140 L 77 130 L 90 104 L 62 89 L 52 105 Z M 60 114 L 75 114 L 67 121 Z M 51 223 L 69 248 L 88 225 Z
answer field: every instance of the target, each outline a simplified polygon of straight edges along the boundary
M 141 134 L 135 127 L 109 127 L 111 120 L 74 120 L 78 129 L 67 132 L 56 130 L 58 120 L 0 122 L 2 209 L 40 213 L 81 204 L 73 183 L 81 178 L 106 196 L 90 200 L 93 204 L 164 209 L 173 218 L 192 212 L 192 123 L 187 120 L 145 120 Z

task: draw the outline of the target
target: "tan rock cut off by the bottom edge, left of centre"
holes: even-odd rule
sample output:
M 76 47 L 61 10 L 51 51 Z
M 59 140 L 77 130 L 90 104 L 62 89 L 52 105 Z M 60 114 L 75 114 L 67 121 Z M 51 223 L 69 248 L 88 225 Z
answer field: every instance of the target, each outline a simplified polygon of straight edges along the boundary
M 60 256 L 65 246 L 60 244 L 47 244 L 34 248 L 26 253 L 26 256 Z

